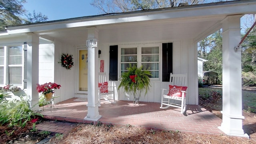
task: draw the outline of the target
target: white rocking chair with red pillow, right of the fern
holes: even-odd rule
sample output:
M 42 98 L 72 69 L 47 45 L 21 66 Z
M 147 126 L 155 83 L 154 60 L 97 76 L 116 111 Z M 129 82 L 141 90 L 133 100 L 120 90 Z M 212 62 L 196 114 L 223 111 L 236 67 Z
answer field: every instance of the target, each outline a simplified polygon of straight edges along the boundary
M 170 86 L 171 85 L 171 86 Z M 176 86 L 171 88 L 172 86 Z M 183 86 L 183 87 L 181 87 Z M 169 108 L 170 106 L 180 108 L 184 113 L 186 110 L 186 89 L 187 74 L 170 74 L 169 90 L 162 88 L 161 90 L 161 107 L 162 109 Z M 180 90 L 178 90 L 179 88 Z M 179 96 L 177 96 L 179 95 Z M 166 100 L 166 101 L 164 101 Z M 180 102 L 177 102 L 180 101 Z M 166 106 L 163 106 L 166 105 Z

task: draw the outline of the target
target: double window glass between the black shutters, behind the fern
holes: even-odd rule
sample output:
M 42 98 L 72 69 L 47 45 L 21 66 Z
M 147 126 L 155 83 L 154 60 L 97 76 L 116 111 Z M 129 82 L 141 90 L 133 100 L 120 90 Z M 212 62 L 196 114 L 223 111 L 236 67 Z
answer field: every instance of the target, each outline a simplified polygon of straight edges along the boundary
M 159 52 L 159 45 L 121 47 L 121 73 L 125 72 L 130 64 L 137 64 L 151 72 L 150 78 L 159 80 Z

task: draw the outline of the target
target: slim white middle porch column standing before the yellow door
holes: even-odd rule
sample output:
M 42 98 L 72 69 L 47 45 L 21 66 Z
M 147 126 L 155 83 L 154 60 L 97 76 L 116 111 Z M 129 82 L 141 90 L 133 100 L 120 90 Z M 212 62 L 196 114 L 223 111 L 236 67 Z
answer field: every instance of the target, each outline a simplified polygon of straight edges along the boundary
M 85 120 L 97 121 L 101 118 L 98 107 L 98 47 L 95 46 L 98 40 L 98 30 L 88 29 L 88 113 Z

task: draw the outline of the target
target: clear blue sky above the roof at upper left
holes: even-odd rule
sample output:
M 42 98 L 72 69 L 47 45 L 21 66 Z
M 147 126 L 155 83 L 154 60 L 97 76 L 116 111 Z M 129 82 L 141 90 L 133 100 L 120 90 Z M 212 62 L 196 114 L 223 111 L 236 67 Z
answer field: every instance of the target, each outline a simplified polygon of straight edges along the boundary
M 93 0 L 26 0 L 24 8 L 33 13 L 41 12 L 47 21 L 98 15 L 99 9 L 90 5 Z

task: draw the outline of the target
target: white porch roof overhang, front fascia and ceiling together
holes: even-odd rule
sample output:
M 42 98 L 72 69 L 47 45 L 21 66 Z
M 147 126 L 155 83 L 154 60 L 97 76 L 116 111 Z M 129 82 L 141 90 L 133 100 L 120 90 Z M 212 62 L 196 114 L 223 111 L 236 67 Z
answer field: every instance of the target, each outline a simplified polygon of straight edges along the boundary
M 144 35 L 155 35 L 154 40 L 192 39 L 194 42 L 219 30 L 227 16 L 256 13 L 255 0 L 237 0 L 156 10 L 104 14 L 8 26 L 1 38 L 34 33 L 41 37 L 59 39 L 74 45 L 82 45 L 87 39 L 87 28 L 96 27 L 101 42 L 115 43 L 121 34 L 132 33 L 130 41 Z M 106 38 L 111 35 L 111 38 Z M 121 36 L 120 36 L 121 35 Z M 134 38 L 134 39 L 132 39 Z M 143 40 L 143 38 L 142 38 Z M 152 39 L 146 40 L 152 41 Z

